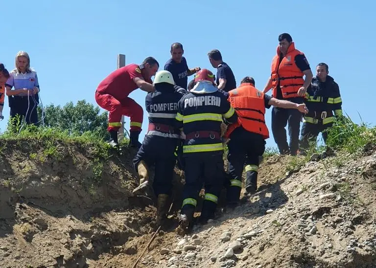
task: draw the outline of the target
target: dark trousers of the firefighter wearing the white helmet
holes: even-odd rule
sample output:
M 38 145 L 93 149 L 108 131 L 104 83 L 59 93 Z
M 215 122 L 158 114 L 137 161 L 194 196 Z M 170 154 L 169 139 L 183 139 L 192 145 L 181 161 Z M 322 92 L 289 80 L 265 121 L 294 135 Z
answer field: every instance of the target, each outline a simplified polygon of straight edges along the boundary
M 144 160 L 149 167 L 155 165 L 153 189 L 156 196 L 171 194 L 176 163 L 174 152 L 179 142 L 180 139 L 177 138 L 145 135 L 142 145 L 133 159 L 136 170 L 141 160 Z

